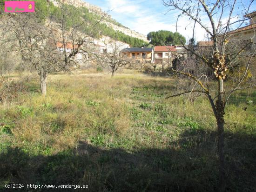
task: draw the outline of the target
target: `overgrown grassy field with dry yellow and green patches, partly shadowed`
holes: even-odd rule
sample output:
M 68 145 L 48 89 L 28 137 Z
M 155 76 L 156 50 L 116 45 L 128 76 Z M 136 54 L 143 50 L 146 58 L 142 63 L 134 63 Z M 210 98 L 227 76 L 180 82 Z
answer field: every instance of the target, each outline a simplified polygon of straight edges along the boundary
M 43 97 L 37 76 L 23 78 L 23 92 L 0 103 L 0 191 L 10 182 L 80 184 L 89 187 L 75 191 L 91 192 L 216 191 L 215 118 L 204 97 L 165 99 L 176 83 L 139 73 L 55 74 Z M 255 104 L 256 90 L 245 90 L 226 109 L 230 192 L 256 190 Z

